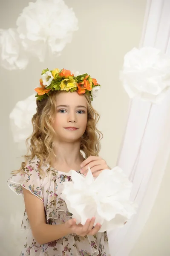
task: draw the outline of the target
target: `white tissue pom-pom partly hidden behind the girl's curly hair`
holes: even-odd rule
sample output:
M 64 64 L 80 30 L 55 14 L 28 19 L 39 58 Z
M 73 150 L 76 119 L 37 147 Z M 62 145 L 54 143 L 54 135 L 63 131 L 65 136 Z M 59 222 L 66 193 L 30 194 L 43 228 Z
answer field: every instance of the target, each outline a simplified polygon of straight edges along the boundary
M 20 149 L 25 148 L 25 140 L 32 134 L 32 116 L 36 113 L 35 94 L 17 102 L 9 115 L 14 142 Z

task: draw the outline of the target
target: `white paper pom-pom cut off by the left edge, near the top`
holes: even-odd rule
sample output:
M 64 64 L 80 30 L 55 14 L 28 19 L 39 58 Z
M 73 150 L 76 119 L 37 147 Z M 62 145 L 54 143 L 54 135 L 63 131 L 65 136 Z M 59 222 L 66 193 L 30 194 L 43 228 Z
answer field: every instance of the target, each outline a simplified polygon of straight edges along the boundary
M 25 69 L 28 64 L 16 29 L 0 29 L 0 62 L 7 70 Z

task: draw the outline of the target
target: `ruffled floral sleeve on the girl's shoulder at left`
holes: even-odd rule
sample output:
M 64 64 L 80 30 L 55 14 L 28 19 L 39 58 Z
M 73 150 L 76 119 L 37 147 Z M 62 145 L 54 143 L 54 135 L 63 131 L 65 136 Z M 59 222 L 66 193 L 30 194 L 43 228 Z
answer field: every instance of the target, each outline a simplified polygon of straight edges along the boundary
M 7 181 L 10 189 L 17 195 L 23 195 L 23 187 L 32 192 L 33 195 L 43 200 L 42 177 L 38 170 L 40 160 L 32 160 L 27 166 L 16 175 L 12 175 Z

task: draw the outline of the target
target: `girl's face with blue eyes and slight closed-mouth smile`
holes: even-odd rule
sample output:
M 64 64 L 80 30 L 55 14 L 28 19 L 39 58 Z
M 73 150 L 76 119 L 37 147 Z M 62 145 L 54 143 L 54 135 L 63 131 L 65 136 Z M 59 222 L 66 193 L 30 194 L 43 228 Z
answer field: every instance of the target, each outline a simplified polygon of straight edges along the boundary
M 85 96 L 77 92 L 61 92 L 56 95 L 56 103 L 53 128 L 57 139 L 65 142 L 80 140 L 87 124 Z

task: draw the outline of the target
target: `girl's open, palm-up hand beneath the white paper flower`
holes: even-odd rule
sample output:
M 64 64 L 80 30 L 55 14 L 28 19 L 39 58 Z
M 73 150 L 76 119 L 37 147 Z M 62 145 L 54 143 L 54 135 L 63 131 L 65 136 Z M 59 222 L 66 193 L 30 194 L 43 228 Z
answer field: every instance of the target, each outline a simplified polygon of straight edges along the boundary
M 93 236 L 101 229 L 101 224 L 97 223 L 94 226 L 95 223 L 95 217 L 93 217 L 91 220 L 88 219 L 85 223 L 85 225 L 81 224 L 75 224 L 76 219 L 70 219 L 69 221 L 66 221 L 65 227 L 69 230 L 70 234 L 77 234 L 78 236 Z

